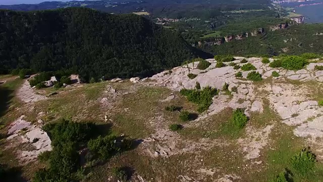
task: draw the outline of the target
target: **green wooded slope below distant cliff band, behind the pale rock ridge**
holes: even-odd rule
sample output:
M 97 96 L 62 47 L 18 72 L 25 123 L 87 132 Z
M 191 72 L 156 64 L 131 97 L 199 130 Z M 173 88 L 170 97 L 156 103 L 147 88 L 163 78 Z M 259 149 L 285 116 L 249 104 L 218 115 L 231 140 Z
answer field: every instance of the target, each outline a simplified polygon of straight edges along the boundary
M 236 56 L 323 53 L 322 29 L 323 24 L 292 25 L 287 29 L 266 30 L 264 34 L 203 49 L 210 53 Z

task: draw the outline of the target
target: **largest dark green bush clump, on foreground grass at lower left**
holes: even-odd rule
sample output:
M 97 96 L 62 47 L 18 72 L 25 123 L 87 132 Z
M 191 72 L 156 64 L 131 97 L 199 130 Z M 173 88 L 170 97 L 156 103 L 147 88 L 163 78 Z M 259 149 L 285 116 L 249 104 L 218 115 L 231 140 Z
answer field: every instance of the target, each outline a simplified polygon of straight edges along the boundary
M 86 160 L 91 161 L 97 157 L 109 159 L 129 149 L 132 144 L 125 139 L 120 141 L 113 135 L 99 135 L 95 139 L 98 128 L 93 123 L 60 120 L 46 124 L 43 129 L 49 133 L 53 150 L 41 155 L 42 161 L 46 161 L 47 165 L 34 174 L 34 182 L 78 181 L 76 172 L 81 167 L 79 150 L 84 146 L 88 146 L 90 150 Z

